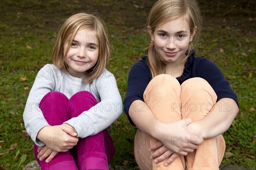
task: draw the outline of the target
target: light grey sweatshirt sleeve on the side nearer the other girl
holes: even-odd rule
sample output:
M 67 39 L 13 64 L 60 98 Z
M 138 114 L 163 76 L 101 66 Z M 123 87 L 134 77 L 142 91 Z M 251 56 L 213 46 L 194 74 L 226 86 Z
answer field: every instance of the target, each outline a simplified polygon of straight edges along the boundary
M 122 98 L 114 75 L 105 69 L 93 83 L 101 101 L 81 115 L 64 122 L 73 126 L 80 138 L 108 128 L 122 114 Z

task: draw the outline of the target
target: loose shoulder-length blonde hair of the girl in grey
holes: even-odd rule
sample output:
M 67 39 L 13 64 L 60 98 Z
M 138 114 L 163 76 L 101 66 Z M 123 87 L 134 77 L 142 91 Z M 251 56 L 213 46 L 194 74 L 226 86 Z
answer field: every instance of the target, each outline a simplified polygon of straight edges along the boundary
M 86 71 L 87 77 L 84 79 L 87 82 L 92 82 L 104 71 L 111 55 L 107 30 L 105 28 L 104 21 L 93 14 L 79 13 L 69 17 L 58 32 L 57 41 L 52 52 L 53 64 L 57 68 L 67 71 L 68 65 L 65 62 L 65 57 L 77 31 L 91 29 L 96 32 L 96 38 L 99 40 L 99 57 L 96 64 Z M 68 43 L 66 51 L 64 51 L 65 43 Z

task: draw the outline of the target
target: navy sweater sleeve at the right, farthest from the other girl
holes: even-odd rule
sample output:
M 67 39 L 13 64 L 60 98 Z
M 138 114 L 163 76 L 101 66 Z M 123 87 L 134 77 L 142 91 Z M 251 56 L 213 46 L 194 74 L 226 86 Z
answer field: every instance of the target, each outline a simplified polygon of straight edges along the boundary
M 230 83 L 225 79 L 221 70 L 215 63 L 209 59 L 201 58 L 198 62 L 197 73 L 198 77 L 205 79 L 213 88 L 217 95 L 217 101 L 222 98 L 231 98 L 235 100 L 239 106 L 239 102 L 236 94 L 230 87 Z

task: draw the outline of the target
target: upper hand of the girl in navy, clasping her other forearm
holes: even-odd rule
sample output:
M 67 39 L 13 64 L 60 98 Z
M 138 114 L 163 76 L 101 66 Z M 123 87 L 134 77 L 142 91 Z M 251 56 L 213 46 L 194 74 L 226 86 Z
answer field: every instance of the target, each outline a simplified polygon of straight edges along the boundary
M 203 139 L 190 133 L 186 126 L 192 122 L 191 118 L 181 119 L 175 122 L 158 125 L 156 139 L 164 144 L 169 150 L 179 155 L 186 156 L 202 144 Z

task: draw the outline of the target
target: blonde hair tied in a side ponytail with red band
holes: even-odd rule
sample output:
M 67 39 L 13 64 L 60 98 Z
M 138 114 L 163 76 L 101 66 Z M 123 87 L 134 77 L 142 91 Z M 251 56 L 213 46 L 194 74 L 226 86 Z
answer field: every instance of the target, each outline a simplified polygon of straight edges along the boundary
M 197 43 L 197 37 L 201 28 L 201 13 L 196 0 L 158 0 L 150 11 L 147 23 L 151 28 L 152 34 L 154 34 L 157 26 L 175 20 L 178 17 L 184 17 L 189 24 L 191 33 L 193 33 L 196 27 L 196 34 L 193 37 L 192 42 L 189 42 L 186 57 L 183 58 L 184 61 L 192 53 L 192 49 Z M 150 45 L 146 48 L 145 53 L 148 55 L 147 62 L 152 78 L 159 74 L 165 74 L 166 64 L 163 62 L 163 58 L 155 50 L 154 45 Z

